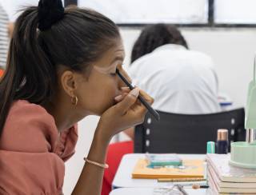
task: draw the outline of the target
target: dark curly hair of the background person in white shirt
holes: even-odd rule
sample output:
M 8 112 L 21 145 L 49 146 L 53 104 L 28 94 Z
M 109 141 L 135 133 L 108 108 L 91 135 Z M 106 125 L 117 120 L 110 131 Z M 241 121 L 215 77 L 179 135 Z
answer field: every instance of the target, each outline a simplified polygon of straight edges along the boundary
M 182 45 L 188 49 L 185 38 L 183 38 L 181 32 L 175 26 L 166 24 L 146 26 L 134 43 L 131 63 L 143 55 L 151 53 L 159 46 L 168 43 Z

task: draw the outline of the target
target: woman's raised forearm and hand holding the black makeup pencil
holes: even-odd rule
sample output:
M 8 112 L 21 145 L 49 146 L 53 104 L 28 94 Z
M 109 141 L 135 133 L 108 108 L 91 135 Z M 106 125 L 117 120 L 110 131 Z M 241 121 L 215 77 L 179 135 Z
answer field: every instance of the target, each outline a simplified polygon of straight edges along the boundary
M 87 157 L 90 161 L 104 164 L 111 137 L 130 126 L 142 123 L 146 108 L 138 101 L 138 93 L 138 89 L 130 91 L 122 101 L 102 114 Z M 153 103 L 149 95 L 143 91 L 141 94 L 146 101 Z M 72 195 L 100 195 L 103 173 L 103 168 L 86 163 Z

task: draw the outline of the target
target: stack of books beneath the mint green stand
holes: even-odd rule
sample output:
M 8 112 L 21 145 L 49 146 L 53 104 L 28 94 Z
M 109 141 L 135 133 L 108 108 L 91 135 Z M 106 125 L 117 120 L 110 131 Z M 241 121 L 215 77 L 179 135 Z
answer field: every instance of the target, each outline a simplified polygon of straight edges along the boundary
M 229 164 L 230 154 L 207 154 L 207 181 L 216 194 L 256 194 L 256 169 Z

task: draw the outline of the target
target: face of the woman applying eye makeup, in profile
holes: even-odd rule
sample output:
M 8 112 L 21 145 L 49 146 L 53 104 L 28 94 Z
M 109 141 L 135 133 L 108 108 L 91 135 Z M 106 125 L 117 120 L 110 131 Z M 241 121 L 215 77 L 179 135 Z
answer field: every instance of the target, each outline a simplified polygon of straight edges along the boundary
M 74 92 L 78 97 L 77 106 L 81 114 L 89 113 L 100 116 L 115 104 L 114 98 L 121 94 L 121 88 L 125 86 L 115 74 L 115 70 L 118 68 L 130 81 L 125 70 L 122 69 L 124 58 L 125 52 L 120 41 L 91 65 L 89 76 L 81 75 L 77 90 Z

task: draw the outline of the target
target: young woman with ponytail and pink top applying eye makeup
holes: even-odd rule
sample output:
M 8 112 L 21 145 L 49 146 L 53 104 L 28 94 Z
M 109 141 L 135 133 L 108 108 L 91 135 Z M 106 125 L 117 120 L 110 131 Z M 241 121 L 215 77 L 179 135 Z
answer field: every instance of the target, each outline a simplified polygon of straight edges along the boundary
M 100 193 L 110 138 L 143 121 L 139 93 L 153 103 L 115 74 L 123 58 L 118 27 L 94 10 L 41 0 L 21 14 L 0 82 L 1 194 L 61 194 L 75 124 L 91 114 L 101 118 L 72 194 Z

